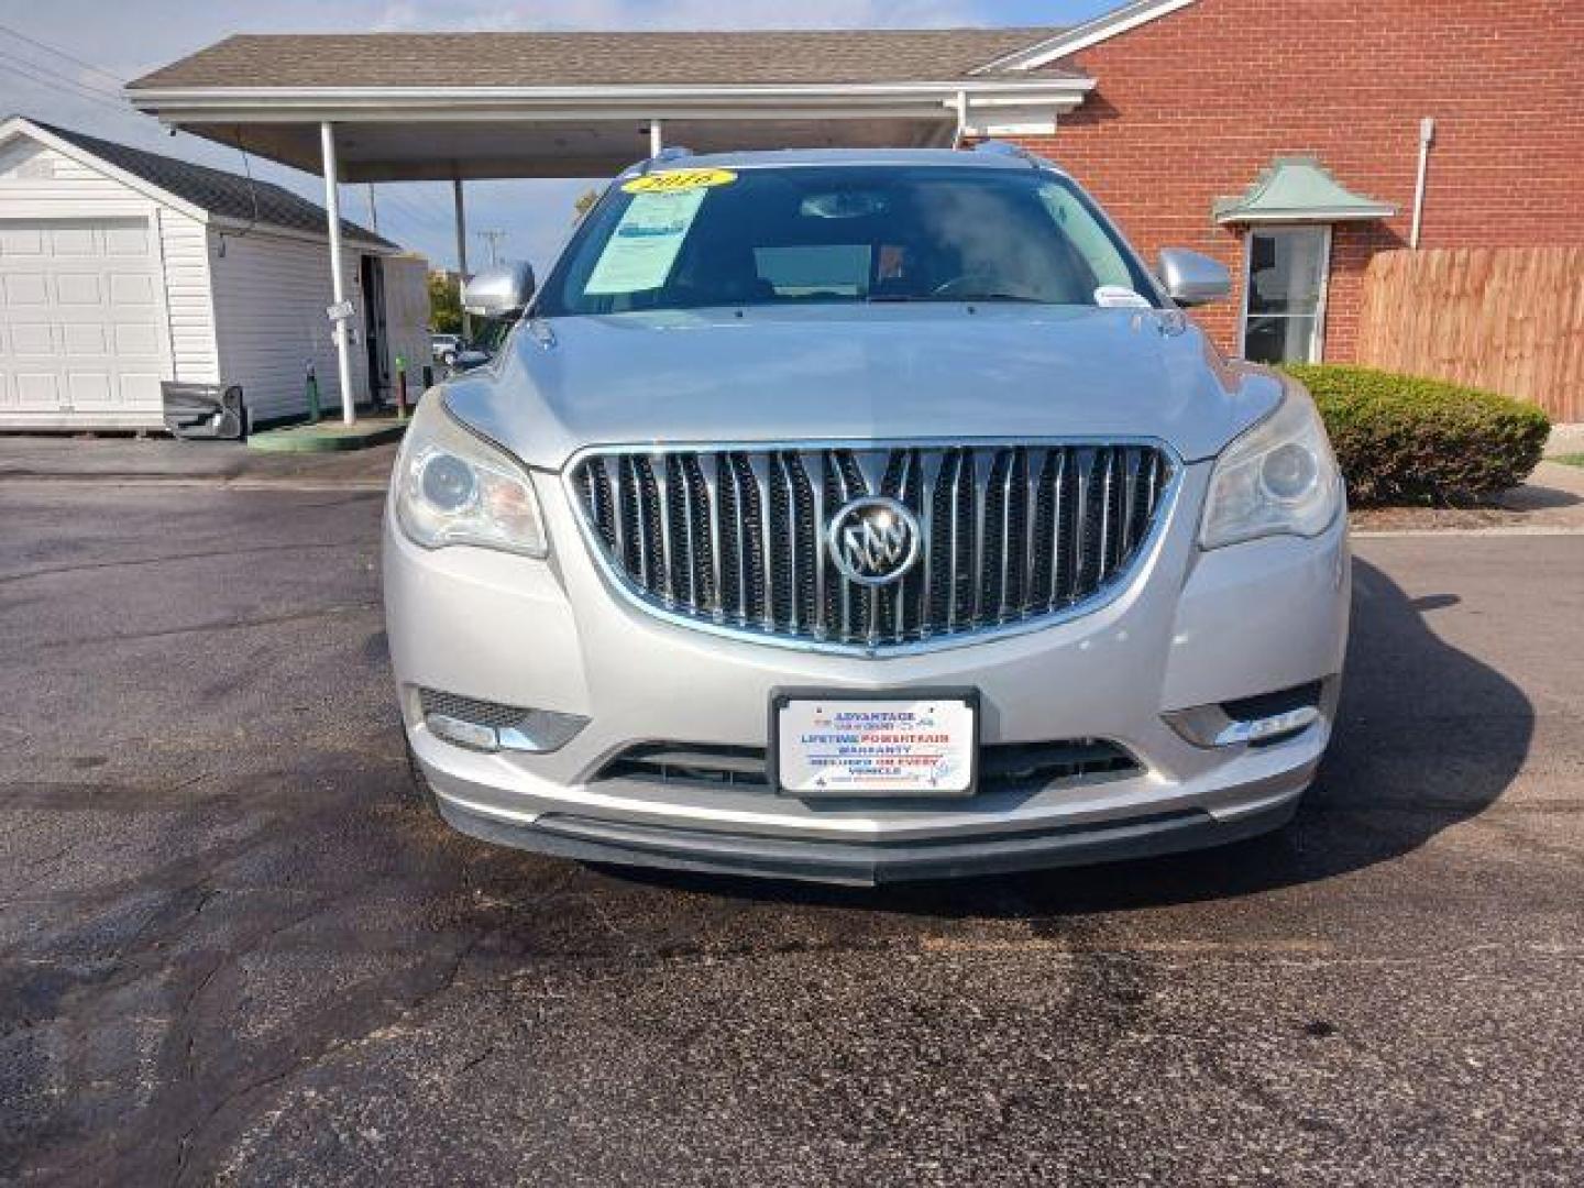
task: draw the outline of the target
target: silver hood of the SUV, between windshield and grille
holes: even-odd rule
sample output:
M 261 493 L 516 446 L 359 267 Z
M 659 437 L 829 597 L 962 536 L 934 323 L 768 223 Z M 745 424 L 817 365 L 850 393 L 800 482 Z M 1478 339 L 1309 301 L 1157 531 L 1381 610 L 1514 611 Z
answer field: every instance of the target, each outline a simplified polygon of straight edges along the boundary
M 535 320 L 447 406 L 535 467 L 591 445 L 1158 437 L 1220 451 L 1280 399 L 1171 312 L 805 306 Z

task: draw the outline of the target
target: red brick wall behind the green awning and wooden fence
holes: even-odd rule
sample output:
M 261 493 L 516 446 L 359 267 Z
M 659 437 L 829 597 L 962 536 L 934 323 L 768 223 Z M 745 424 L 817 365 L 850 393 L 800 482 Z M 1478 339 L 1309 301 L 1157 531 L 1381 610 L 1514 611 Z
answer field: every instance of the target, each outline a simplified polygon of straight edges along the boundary
M 1278 154 L 1399 208 L 1334 234 L 1326 358 L 1353 358 L 1370 255 L 1405 247 L 1419 120 L 1437 139 L 1421 246 L 1584 244 L 1584 0 L 1199 0 L 1077 54 L 1099 86 L 1055 136 L 1128 236 L 1223 260 L 1210 217 Z M 1199 310 L 1236 344 L 1237 299 Z

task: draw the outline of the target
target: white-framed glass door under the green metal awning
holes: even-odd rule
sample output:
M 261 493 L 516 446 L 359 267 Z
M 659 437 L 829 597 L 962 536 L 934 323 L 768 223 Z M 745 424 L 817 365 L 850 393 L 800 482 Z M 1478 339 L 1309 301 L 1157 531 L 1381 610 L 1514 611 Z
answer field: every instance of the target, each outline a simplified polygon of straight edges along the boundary
M 1331 227 L 1253 227 L 1243 247 L 1240 353 L 1253 363 L 1319 363 L 1326 344 Z

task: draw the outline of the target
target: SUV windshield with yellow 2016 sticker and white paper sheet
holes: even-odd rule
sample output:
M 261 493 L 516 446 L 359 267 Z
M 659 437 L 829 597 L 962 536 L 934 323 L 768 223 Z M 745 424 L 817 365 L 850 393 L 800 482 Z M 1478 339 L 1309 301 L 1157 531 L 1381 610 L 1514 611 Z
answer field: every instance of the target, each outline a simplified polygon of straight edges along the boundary
M 1155 306 L 1085 195 L 1044 169 L 667 169 L 613 187 L 539 314 L 830 301 Z

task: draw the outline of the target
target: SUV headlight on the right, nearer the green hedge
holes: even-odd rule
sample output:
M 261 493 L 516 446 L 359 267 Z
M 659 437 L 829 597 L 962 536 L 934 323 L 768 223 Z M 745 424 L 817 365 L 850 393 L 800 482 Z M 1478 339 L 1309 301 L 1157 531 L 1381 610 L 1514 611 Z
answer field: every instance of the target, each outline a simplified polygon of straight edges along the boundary
M 1215 459 L 1199 545 L 1319 535 L 1340 508 L 1342 474 L 1326 426 L 1308 393 L 1288 383 L 1277 410 Z

